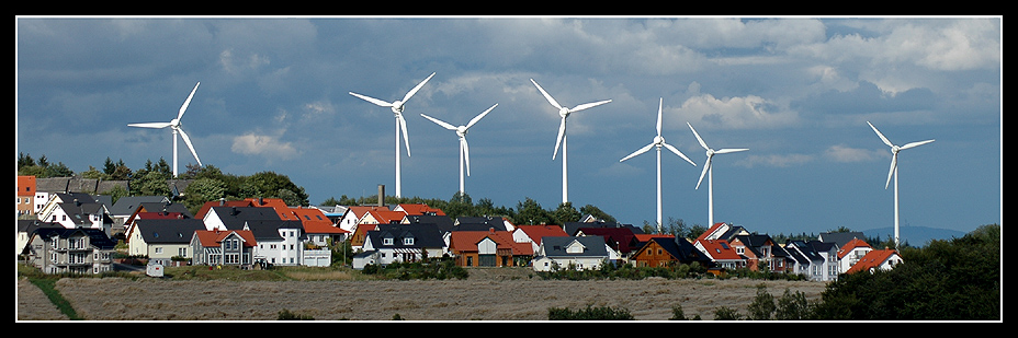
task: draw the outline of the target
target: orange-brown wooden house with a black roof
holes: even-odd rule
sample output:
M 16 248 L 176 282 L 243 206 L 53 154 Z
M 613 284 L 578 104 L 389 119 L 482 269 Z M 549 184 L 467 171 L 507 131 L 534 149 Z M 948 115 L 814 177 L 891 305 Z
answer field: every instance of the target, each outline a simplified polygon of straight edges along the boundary
M 653 237 L 632 253 L 629 263 L 634 267 L 667 267 L 677 264 L 699 264 L 708 268 L 711 258 L 683 237 Z

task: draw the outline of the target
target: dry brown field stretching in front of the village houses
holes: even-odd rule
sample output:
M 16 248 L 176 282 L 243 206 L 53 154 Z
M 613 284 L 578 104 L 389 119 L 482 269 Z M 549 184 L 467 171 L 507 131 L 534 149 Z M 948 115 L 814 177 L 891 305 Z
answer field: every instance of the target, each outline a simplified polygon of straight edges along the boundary
M 275 320 L 289 310 L 315 320 L 547 320 L 547 308 L 624 307 L 637 320 L 668 320 L 671 307 L 713 319 L 721 306 L 743 316 L 767 284 L 819 299 L 822 282 L 761 280 L 557 281 L 529 269 L 472 269 L 466 280 L 174 281 L 63 279 L 57 289 L 88 320 Z M 42 291 L 18 283 L 18 320 L 66 320 Z

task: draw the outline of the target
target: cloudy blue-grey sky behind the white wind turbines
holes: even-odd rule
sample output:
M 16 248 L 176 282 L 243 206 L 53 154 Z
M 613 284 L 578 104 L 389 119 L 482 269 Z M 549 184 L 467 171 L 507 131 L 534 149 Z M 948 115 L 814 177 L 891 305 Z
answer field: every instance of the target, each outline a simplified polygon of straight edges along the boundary
M 562 202 L 563 106 L 611 103 L 567 120 L 568 197 L 631 224 L 663 214 L 761 233 L 893 226 L 890 147 L 902 226 L 969 232 L 1003 222 L 1003 16 L 18 16 L 16 151 L 75 172 L 106 158 L 172 164 L 181 119 L 205 165 L 275 172 L 330 197 L 395 193 L 395 119 L 350 92 L 407 103 L 401 195 L 459 190 L 456 135 L 420 114 L 474 125 L 466 193 L 514 208 Z M 687 125 L 689 124 L 689 125 Z M 196 163 L 182 141 L 180 171 Z M 907 238 L 904 238 L 907 240 Z

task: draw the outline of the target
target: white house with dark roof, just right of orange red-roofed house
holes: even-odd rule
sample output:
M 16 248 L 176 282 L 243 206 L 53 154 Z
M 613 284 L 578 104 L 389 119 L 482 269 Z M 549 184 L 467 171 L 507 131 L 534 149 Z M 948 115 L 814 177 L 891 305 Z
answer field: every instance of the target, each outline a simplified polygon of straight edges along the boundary
M 534 271 L 561 269 L 593 270 L 609 259 L 609 248 L 600 236 L 543 237 L 534 253 Z

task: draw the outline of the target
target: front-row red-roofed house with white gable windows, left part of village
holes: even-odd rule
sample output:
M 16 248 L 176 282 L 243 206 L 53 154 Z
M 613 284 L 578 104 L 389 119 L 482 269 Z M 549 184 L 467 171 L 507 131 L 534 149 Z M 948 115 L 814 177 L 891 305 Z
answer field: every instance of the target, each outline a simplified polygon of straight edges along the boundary
M 251 267 L 257 244 L 249 230 L 196 230 L 190 242 L 191 264 Z

